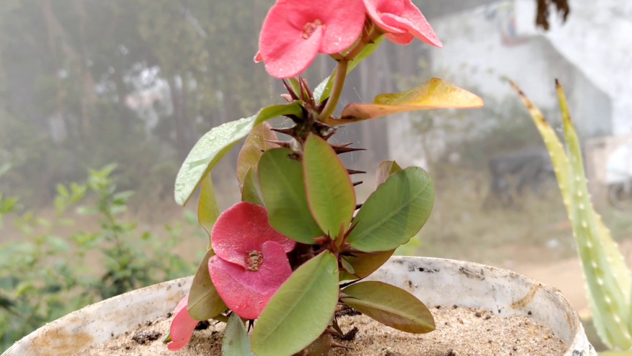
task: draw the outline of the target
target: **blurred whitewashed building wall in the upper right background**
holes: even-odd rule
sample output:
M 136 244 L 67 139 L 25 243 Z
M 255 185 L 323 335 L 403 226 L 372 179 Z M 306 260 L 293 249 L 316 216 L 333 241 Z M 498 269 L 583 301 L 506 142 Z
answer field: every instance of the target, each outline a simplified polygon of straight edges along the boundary
M 629 18 L 632 19 L 629 9 L 632 5 L 623 6 L 625 0 L 601 1 L 597 2 L 599 6 L 586 0 L 571 4 L 573 11 L 566 25 L 556 26 L 556 18 L 552 16 L 552 29 L 546 34 L 535 30 L 533 25 L 533 0 L 499 1 L 434 18 L 430 22 L 444 48 L 427 47 L 430 68 L 421 70 L 422 75 L 440 77 L 483 97 L 494 98 L 498 103 L 504 99 L 518 101 L 505 80 L 509 78 L 517 82 L 540 109 L 559 115 L 554 87 L 557 78 L 564 86 L 571 115 L 581 136 L 627 134 L 632 131 L 632 42 L 626 44 L 627 37 L 616 34 L 614 42 L 621 55 L 606 48 L 611 46 L 608 31 L 623 29 L 630 20 L 617 16 L 611 24 L 604 13 L 612 10 L 609 6 L 620 6 L 624 13 L 631 12 Z M 597 11 L 597 20 L 587 16 L 590 11 Z M 592 35 L 592 29 L 576 29 L 581 25 L 604 29 L 595 30 L 598 35 Z M 632 29 L 628 35 L 632 40 Z M 583 44 L 585 38 L 588 40 Z M 601 44 L 597 46 L 597 42 Z M 599 53 L 595 54 L 595 51 Z M 440 111 L 435 112 L 441 117 Z M 423 150 L 421 137 L 415 134 L 410 116 L 400 116 L 390 119 L 391 155 L 403 165 L 423 167 L 428 153 Z M 559 122 L 559 117 L 549 120 Z M 482 126 L 487 124 L 481 122 Z M 441 151 L 445 147 L 438 142 L 441 137 L 446 135 L 434 136 L 430 146 Z

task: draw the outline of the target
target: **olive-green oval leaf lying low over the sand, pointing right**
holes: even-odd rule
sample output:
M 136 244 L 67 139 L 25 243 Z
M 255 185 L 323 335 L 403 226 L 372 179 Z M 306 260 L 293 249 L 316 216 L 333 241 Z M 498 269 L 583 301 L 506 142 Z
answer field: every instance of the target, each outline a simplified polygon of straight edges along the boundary
M 382 324 L 407 333 L 423 334 L 435 329 L 430 310 L 414 295 L 384 282 L 360 282 L 343 289 L 354 298 L 342 301 Z

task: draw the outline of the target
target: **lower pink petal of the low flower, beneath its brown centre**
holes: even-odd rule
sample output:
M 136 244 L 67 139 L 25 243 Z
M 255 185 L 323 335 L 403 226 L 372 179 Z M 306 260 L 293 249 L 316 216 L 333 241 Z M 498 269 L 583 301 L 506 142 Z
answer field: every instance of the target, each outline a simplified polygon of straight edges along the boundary
M 275 241 L 263 245 L 263 263 L 257 271 L 246 270 L 215 255 L 209 274 L 226 306 L 244 319 L 257 319 L 277 289 L 292 274 L 283 246 Z

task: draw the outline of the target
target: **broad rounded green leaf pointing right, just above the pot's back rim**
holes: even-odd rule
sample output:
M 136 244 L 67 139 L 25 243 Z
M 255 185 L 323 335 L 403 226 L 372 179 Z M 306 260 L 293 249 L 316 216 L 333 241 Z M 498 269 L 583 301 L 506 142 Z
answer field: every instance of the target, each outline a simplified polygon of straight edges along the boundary
M 360 251 L 403 245 L 425 224 L 434 204 L 434 185 L 419 167 L 392 174 L 368 197 L 353 219 L 347 242 Z

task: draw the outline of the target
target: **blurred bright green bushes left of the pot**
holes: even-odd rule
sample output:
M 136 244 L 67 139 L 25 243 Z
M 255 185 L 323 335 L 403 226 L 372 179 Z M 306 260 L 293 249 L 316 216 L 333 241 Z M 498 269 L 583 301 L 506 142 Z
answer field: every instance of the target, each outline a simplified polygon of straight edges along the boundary
M 0 352 L 85 305 L 195 271 L 195 265 L 174 253 L 181 225 L 164 225 L 168 237 L 161 238 L 123 219 L 133 192 L 116 188 L 114 170 L 116 165 L 107 165 L 89 170 L 82 184 L 59 184 L 49 219 L 18 214 L 23 210 L 18 198 L 0 194 L 0 218 L 16 215 L 11 221 L 21 232 L 19 241 L 0 244 Z M 82 231 L 75 226 L 79 215 L 94 218 L 98 227 Z M 197 227 L 195 214 L 185 220 Z M 72 232 L 57 236 L 63 227 Z M 200 246 L 205 236 L 198 234 Z

